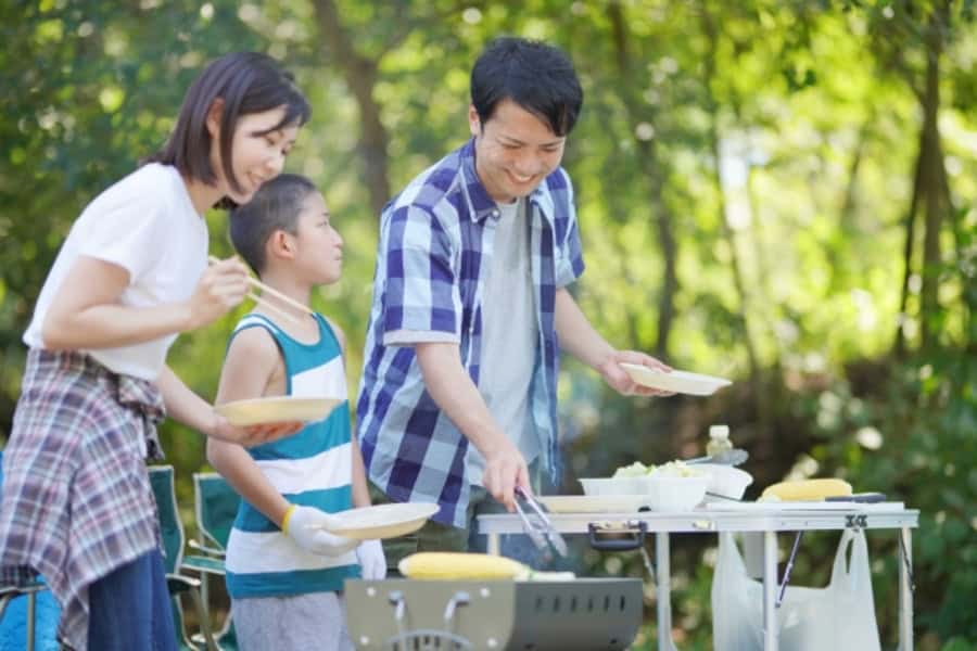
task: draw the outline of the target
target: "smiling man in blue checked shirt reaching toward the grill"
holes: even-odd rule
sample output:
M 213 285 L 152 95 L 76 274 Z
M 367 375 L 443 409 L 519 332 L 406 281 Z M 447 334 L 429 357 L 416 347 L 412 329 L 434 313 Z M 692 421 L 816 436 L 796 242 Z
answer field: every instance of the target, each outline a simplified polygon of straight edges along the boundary
M 619 362 L 669 370 L 614 349 L 566 289 L 584 263 L 559 165 L 582 102 L 561 51 L 493 41 L 471 73 L 472 139 L 383 210 L 357 435 L 388 499 L 441 507 L 389 546 L 393 566 L 467 550 L 491 498 L 511 511 L 517 485 L 555 473 L 559 346 L 622 394 L 658 392 Z

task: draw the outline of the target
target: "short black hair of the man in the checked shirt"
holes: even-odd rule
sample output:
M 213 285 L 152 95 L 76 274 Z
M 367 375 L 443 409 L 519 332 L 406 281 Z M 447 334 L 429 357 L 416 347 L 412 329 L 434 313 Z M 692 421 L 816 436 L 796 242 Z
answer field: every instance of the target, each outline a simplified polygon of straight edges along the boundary
M 484 125 L 503 100 L 537 116 L 557 136 L 576 124 L 583 90 L 573 63 L 558 48 L 516 37 L 493 40 L 471 71 L 471 103 Z

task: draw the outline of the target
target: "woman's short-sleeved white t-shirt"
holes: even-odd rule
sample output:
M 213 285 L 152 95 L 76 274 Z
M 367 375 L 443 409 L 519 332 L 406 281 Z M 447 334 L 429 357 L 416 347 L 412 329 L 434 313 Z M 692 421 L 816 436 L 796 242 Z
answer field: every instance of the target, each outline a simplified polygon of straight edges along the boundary
M 41 324 L 79 256 L 129 272 L 122 305 L 150 307 L 188 299 L 207 266 L 207 222 L 193 208 L 175 167 L 152 163 L 99 194 L 72 226 L 41 289 L 24 343 L 43 348 Z M 170 334 L 118 348 L 85 350 L 107 369 L 155 380 L 176 339 Z

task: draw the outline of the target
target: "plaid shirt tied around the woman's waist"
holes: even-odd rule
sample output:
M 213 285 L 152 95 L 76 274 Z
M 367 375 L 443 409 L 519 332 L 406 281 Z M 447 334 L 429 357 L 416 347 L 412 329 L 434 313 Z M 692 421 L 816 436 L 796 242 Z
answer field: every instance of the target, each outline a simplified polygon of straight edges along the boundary
M 158 547 L 145 459 L 160 458 L 156 386 L 84 353 L 30 349 L 3 452 L 0 585 L 43 575 L 59 637 L 88 647 L 88 586 Z

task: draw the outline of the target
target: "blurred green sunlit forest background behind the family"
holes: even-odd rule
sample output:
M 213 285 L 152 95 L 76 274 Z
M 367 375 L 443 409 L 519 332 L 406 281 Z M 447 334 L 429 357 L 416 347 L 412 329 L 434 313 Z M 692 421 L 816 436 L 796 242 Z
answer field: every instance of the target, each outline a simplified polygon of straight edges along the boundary
M 722 375 L 710 398 L 622 398 L 568 361 L 562 486 L 702 454 L 725 423 L 747 497 L 839 476 L 922 510 L 921 649 L 977 648 L 977 24 L 973 0 L 42 0 L 0 3 L 0 439 L 21 335 L 72 221 L 158 148 L 211 59 L 286 62 L 314 114 L 288 168 L 346 242 L 315 307 L 361 365 L 382 205 L 468 136 L 468 74 L 494 36 L 559 44 L 584 112 L 564 166 L 587 271 L 573 291 L 619 347 Z M 212 252 L 230 253 L 225 215 Z M 246 306 L 242 306 L 242 310 Z M 213 399 L 239 311 L 170 363 Z M 203 439 L 164 425 L 181 503 Z M 896 639 L 892 532 L 870 536 L 883 641 Z M 673 538 L 674 630 L 710 649 L 715 540 Z M 824 585 L 837 536 L 791 583 Z M 639 576 L 635 554 L 586 553 Z M 650 587 L 649 587 L 650 590 Z M 655 646 L 654 592 L 635 648 Z

